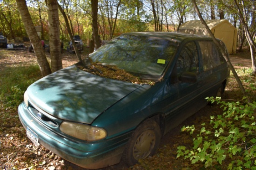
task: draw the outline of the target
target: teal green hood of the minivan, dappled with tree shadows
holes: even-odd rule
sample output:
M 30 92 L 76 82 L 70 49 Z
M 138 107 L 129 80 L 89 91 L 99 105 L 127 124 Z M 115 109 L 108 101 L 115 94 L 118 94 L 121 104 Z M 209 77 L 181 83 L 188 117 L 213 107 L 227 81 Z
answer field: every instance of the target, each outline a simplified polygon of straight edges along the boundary
M 27 88 L 27 95 L 36 107 L 54 117 L 91 124 L 108 107 L 141 86 L 70 66 L 34 82 Z

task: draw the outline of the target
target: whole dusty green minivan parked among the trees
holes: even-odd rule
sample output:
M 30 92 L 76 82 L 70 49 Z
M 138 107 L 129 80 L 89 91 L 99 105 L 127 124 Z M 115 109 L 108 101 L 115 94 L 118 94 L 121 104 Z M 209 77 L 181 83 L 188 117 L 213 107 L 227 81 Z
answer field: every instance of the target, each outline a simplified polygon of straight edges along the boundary
M 126 33 L 89 57 L 138 81 L 78 63 L 34 82 L 18 108 L 35 145 L 88 169 L 153 155 L 164 134 L 223 93 L 229 76 L 211 38 L 179 32 Z

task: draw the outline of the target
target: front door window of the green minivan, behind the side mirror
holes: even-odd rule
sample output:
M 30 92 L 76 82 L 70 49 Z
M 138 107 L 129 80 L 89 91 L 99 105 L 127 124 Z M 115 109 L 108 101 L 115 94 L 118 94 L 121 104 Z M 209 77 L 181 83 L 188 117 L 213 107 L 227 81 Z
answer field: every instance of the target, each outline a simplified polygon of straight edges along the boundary
M 177 61 L 178 76 L 183 72 L 199 72 L 198 53 L 195 42 L 190 42 L 184 45 Z

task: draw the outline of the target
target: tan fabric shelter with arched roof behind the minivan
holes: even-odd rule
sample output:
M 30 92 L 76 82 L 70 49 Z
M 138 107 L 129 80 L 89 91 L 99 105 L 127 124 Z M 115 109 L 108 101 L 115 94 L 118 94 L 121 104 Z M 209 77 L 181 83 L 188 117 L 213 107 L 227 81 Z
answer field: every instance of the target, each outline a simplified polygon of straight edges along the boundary
M 205 20 L 206 24 L 209 26 L 213 35 L 216 38 L 221 39 L 229 53 L 236 53 L 236 41 L 237 41 L 237 30 L 236 28 L 229 23 L 226 19 L 212 19 Z M 197 34 L 197 35 L 206 35 L 209 36 L 208 31 L 202 25 L 200 20 L 191 20 L 185 22 L 180 26 L 180 32 L 189 33 L 189 34 Z

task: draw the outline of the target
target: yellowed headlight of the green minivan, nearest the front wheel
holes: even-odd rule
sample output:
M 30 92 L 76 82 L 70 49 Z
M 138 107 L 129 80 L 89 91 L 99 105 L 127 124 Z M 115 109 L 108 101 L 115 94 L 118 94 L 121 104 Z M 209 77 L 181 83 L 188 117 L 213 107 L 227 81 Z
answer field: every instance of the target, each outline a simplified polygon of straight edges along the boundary
M 60 130 L 61 132 L 73 136 L 74 138 L 86 141 L 101 140 L 107 137 L 107 132 L 100 127 L 68 121 L 61 123 Z

